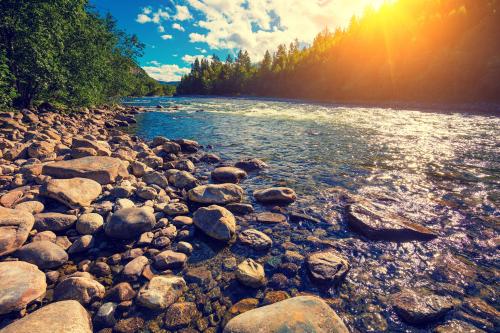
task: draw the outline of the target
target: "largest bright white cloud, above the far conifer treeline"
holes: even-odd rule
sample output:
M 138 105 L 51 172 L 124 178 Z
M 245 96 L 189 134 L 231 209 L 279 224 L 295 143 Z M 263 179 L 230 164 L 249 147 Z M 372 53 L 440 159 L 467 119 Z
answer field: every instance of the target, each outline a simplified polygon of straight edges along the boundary
M 346 26 L 353 15 L 381 0 L 186 0 L 203 19 L 206 33 L 190 33 L 192 43 L 212 49 L 246 49 L 254 60 L 265 50 L 295 38 L 309 44 L 325 27 Z

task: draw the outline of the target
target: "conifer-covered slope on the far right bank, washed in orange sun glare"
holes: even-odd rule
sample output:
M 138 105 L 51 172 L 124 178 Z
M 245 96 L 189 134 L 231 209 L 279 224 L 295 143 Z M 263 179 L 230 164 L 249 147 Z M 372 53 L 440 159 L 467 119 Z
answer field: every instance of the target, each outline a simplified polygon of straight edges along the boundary
M 399 0 L 257 64 L 196 60 L 178 94 L 335 101 L 500 102 L 497 0 Z

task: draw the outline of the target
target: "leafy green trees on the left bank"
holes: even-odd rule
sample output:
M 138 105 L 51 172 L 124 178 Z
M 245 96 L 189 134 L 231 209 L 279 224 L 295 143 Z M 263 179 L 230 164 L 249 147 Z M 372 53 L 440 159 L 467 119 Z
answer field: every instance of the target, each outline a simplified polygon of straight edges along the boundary
M 0 105 L 96 105 L 168 87 L 136 63 L 143 45 L 87 0 L 1 0 Z

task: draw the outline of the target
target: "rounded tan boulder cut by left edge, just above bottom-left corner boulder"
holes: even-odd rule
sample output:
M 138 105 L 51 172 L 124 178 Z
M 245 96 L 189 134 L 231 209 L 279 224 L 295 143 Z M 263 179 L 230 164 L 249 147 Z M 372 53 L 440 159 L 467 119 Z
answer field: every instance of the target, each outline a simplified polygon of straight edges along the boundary
M 22 310 L 45 295 L 45 274 L 24 261 L 0 262 L 0 315 Z

